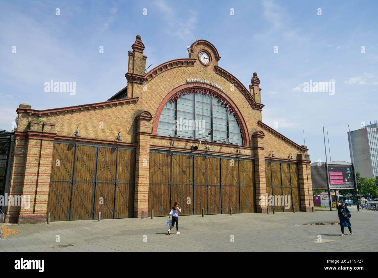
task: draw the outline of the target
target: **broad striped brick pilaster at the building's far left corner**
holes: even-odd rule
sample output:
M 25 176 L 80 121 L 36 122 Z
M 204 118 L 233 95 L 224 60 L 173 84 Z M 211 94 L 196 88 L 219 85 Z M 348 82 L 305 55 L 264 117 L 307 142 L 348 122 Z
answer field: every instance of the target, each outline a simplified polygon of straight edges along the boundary
M 9 195 L 23 203 L 8 205 L 7 222 L 46 220 L 55 124 L 30 121 L 29 129 L 15 131 L 14 163 Z

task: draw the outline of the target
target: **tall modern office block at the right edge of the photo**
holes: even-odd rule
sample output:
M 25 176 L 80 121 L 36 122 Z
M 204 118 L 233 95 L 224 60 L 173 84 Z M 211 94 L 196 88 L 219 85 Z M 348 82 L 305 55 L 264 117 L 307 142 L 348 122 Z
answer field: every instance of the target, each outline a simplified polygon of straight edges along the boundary
M 348 132 L 349 151 L 356 172 L 361 177 L 372 178 L 378 175 L 378 124 L 371 123 L 361 129 Z

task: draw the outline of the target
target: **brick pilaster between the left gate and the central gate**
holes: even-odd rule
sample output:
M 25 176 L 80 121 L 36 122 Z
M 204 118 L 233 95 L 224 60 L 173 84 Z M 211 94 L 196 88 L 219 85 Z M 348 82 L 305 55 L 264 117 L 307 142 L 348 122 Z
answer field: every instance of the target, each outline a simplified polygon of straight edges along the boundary
M 150 166 L 150 135 L 152 116 L 142 112 L 136 117 L 136 164 L 135 164 L 135 195 L 134 217 L 145 218 L 148 214 L 149 166 Z

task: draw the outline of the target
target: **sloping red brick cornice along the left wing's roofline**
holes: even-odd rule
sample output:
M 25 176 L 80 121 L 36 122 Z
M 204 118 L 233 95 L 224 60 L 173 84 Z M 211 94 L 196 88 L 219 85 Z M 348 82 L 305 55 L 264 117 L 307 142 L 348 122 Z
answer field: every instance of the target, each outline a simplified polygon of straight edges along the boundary
M 104 101 L 101 103 L 83 104 L 79 106 L 68 106 L 68 107 L 61 107 L 61 108 L 54 108 L 54 109 L 47 109 L 47 110 L 17 108 L 16 112 L 28 113 L 28 115 L 43 116 L 43 115 L 53 115 L 53 114 L 68 113 L 68 112 L 77 112 L 77 111 L 89 110 L 89 109 L 97 109 L 97 108 L 109 107 L 109 106 L 121 105 L 121 104 L 127 104 L 127 103 L 136 103 L 138 100 L 139 100 L 138 97 L 116 99 L 116 100 L 111 100 L 111 101 Z

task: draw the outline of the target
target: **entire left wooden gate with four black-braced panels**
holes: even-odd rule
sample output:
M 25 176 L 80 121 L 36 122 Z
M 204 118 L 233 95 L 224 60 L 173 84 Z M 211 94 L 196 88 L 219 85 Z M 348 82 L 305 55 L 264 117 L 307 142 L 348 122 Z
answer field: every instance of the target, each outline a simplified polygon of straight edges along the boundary
M 135 149 L 54 142 L 51 221 L 133 216 Z

